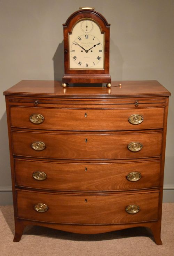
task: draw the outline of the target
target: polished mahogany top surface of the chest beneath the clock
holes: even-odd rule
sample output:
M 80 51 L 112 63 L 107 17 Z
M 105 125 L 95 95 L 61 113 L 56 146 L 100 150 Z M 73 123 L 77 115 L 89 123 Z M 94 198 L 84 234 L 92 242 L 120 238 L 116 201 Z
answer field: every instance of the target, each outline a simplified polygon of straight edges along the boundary
M 120 83 L 121 86 L 118 86 Z M 4 95 L 49 96 L 53 98 L 128 98 L 171 95 L 171 93 L 156 80 L 112 81 L 112 88 L 84 86 L 62 88 L 61 84 L 61 81 L 54 80 L 22 80 L 6 90 Z

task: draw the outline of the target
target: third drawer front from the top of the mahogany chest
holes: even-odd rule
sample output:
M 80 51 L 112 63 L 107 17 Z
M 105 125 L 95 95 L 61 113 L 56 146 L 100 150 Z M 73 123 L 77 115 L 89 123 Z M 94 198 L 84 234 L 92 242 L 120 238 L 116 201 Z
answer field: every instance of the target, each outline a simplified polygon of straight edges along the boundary
M 160 161 L 73 164 L 15 160 L 15 184 L 28 188 L 60 191 L 150 188 L 159 187 L 159 174 Z

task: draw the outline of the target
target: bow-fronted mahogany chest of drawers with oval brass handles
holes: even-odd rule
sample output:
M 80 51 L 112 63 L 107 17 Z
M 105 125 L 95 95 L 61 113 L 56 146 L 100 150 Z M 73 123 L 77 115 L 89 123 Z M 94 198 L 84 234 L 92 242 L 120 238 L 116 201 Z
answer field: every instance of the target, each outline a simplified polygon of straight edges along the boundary
M 4 92 L 15 237 L 26 225 L 75 233 L 149 227 L 158 245 L 170 93 L 157 81 Z

